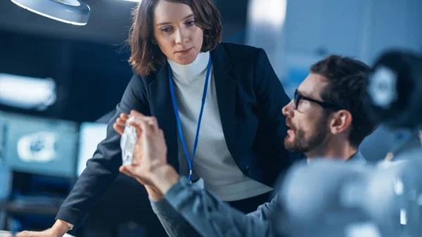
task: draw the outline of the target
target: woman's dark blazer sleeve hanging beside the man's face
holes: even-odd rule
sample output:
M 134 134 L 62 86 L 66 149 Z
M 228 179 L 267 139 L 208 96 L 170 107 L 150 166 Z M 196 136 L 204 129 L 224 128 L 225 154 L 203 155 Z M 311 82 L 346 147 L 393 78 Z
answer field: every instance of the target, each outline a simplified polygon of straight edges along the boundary
M 286 117 L 281 110 L 290 102 L 283 85 L 274 72 L 269 62 L 267 53 L 259 49 L 255 58 L 254 82 L 255 96 L 257 98 L 258 117 L 263 133 L 261 134 L 262 146 L 267 150 L 267 157 L 274 164 L 273 178 L 281 170 L 290 167 L 291 162 L 300 157 L 300 154 L 290 153 L 284 148 L 284 138 L 288 127 Z

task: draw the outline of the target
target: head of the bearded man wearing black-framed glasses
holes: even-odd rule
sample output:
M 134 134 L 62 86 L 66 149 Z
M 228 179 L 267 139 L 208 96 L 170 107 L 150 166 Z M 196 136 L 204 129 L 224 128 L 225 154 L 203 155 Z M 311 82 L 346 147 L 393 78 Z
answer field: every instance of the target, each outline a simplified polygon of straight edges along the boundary
M 369 70 L 362 62 L 340 56 L 312 65 L 282 110 L 290 128 L 286 149 L 304 153 L 308 161 L 318 157 L 363 161 L 359 144 L 376 127 L 363 106 Z

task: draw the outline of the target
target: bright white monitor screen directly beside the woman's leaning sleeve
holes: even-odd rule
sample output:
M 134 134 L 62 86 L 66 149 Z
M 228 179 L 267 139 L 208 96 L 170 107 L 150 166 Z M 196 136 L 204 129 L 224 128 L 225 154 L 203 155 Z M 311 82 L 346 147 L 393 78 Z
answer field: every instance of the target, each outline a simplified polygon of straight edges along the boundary
M 107 124 L 98 122 L 82 122 L 79 127 L 79 152 L 77 156 L 77 172 L 79 177 L 87 167 L 87 161 L 92 158 L 98 143 L 106 139 Z

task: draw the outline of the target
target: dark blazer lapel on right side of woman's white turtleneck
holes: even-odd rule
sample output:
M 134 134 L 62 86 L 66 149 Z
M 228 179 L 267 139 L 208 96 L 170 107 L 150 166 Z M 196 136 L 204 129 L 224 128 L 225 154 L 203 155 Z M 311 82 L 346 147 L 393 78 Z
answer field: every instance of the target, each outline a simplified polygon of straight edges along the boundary
M 221 44 L 211 51 L 211 57 L 224 138 L 226 139 L 227 148 L 229 148 L 231 156 L 237 162 L 236 79 L 229 75 L 232 68 L 231 62 Z

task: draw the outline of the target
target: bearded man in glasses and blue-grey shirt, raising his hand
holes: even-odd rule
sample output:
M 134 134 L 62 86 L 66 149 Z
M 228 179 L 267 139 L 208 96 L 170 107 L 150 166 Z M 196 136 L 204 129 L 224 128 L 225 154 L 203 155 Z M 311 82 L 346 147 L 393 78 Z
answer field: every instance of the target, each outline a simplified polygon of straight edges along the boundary
M 365 162 L 359 144 L 376 128 L 363 105 L 369 71 L 364 63 L 341 56 L 312 65 L 282 110 L 290 128 L 284 146 L 305 154 L 308 162 L 315 158 Z M 212 193 L 188 184 L 167 165 L 164 137 L 154 118 L 132 116 L 140 135 L 139 150 L 135 165 L 120 171 L 146 186 L 153 210 L 170 236 L 276 236 L 268 220 L 281 212 L 277 196 L 247 215 L 234 210 Z

